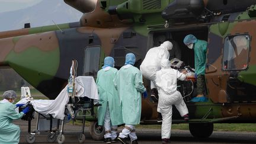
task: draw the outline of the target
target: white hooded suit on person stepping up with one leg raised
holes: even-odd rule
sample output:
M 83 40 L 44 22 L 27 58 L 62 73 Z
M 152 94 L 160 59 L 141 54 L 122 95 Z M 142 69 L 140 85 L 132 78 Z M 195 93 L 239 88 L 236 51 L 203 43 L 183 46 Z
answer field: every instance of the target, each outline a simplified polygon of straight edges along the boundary
M 177 79 L 183 81 L 185 75 L 171 68 L 168 59 L 161 60 L 161 70 L 156 72 L 156 87 L 159 92 L 158 112 L 162 114 L 162 139 L 169 139 L 171 136 L 172 104 L 183 117 L 188 114 L 187 106 L 177 91 Z

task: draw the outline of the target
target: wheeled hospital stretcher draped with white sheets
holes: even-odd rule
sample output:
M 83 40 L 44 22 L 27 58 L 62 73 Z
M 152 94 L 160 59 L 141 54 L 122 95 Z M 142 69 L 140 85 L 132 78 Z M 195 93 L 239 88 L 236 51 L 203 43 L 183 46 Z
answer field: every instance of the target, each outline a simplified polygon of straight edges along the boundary
M 31 97 L 24 97 L 18 103 L 27 103 L 20 108 L 30 106 L 31 110 L 22 118 L 28 121 L 28 135 L 26 141 L 34 143 L 36 135 L 40 132 L 49 132 L 47 142 L 65 142 L 63 132 L 65 123 L 71 120 L 82 120 L 81 133 L 78 136 L 79 143 L 84 143 L 85 117 L 94 116 L 94 106 L 98 104 L 98 91 L 92 76 L 78 76 L 75 78 L 75 95 L 68 94 L 68 85 L 60 92 L 55 100 L 33 100 Z M 32 100 L 31 100 L 32 99 Z M 31 130 L 31 120 L 37 113 L 36 129 Z

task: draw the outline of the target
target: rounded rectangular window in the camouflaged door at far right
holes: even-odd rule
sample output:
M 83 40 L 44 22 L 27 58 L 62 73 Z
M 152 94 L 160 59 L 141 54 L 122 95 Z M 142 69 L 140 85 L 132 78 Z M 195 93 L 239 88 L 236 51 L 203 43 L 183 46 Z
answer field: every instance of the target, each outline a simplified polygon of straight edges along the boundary
M 224 71 L 244 70 L 248 67 L 249 35 L 225 38 L 222 69 Z

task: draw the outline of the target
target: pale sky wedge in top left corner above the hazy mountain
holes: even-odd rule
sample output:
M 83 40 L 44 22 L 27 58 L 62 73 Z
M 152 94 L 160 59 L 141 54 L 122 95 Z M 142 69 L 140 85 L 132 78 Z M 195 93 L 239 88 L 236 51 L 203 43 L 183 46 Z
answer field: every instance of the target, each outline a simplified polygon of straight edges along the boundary
M 0 13 L 31 7 L 41 1 L 43 0 L 0 0 Z

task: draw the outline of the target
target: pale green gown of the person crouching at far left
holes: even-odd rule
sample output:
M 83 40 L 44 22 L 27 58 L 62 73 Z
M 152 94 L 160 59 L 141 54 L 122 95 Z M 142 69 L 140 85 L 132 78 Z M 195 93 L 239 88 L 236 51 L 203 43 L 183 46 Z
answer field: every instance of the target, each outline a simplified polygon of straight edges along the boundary
M 24 113 L 17 113 L 16 106 L 11 103 L 0 102 L 0 143 L 19 143 L 20 127 L 13 124 L 12 120 L 21 119 Z

